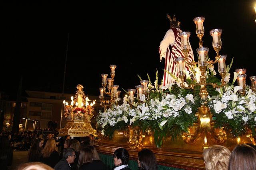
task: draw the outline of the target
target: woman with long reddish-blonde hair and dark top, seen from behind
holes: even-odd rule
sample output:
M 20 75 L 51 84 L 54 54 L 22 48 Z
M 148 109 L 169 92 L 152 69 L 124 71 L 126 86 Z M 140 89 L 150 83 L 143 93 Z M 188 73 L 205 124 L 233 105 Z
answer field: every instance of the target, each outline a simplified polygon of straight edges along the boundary
M 47 140 L 43 150 L 42 156 L 40 157 L 40 162 L 49 165 L 50 167 L 54 168 L 54 166 L 59 161 L 59 152 L 58 148 L 56 147 L 56 142 L 54 138 L 50 138 Z

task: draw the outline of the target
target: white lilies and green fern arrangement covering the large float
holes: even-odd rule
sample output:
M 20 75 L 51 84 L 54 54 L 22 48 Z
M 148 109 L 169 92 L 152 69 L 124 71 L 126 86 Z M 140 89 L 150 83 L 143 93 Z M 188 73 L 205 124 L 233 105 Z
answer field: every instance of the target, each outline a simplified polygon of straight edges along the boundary
M 233 60 L 232 60 L 233 61 Z M 220 89 L 207 86 L 209 93 L 208 107 L 216 119 L 216 127 L 225 127 L 230 130 L 233 136 L 240 136 L 245 133 L 248 127 L 255 135 L 256 127 L 256 94 L 249 86 L 246 87 L 246 95 L 237 93 L 241 87 L 235 87 L 236 73 L 232 83 L 229 83 L 230 70 L 232 63 L 227 66 L 226 84 Z M 170 73 L 171 74 L 171 73 Z M 190 77 L 186 73 L 186 77 Z M 200 81 L 200 70 L 195 67 L 193 73 L 195 79 L 186 79 L 185 85 L 198 83 Z M 213 65 L 208 65 L 206 71 L 206 83 L 221 84 L 215 77 Z M 140 76 L 138 76 L 140 78 Z M 96 118 L 98 130 L 102 134 L 112 138 L 115 130 L 126 130 L 130 127 L 140 127 L 143 132 L 154 131 L 154 140 L 157 147 L 161 147 L 164 138 L 171 137 L 173 140 L 180 138 L 183 132 L 188 132 L 188 127 L 197 122 L 194 113 L 205 101 L 198 95 L 200 86 L 194 89 L 182 89 L 181 80 L 175 76 L 174 84 L 158 89 L 158 71 L 154 85 L 148 76 L 148 96 L 143 95 L 142 102 L 135 101 L 132 107 L 128 104 L 128 99 L 123 98 L 123 104 L 118 105 L 120 99 L 116 99 L 116 105 L 107 109 L 104 113 L 100 112 Z M 140 78 L 140 80 L 142 80 Z M 125 90 L 124 90 L 125 91 Z M 127 93 L 127 92 L 126 92 Z

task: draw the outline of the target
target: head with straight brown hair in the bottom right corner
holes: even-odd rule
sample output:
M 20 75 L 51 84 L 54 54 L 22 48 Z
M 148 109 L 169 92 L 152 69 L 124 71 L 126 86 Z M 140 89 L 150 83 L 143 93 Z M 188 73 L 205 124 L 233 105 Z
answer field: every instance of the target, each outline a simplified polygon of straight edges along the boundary
M 256 150 L 248 144 L 238 144 L 231 152 L 228 170 L 255 170 Z

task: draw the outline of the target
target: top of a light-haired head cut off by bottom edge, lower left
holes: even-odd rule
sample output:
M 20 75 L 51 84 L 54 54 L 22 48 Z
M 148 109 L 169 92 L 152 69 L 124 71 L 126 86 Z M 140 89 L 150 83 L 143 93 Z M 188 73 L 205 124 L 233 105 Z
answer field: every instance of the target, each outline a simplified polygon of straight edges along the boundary
M 17 170 L 54 170 L 54 169 L 42 162 L 27 162 L 27 163 L 20 164 Z

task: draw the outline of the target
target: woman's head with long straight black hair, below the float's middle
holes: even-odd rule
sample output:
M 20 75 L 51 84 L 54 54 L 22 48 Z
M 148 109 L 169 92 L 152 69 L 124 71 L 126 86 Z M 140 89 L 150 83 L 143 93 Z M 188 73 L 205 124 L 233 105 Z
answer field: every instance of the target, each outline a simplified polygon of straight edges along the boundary
M 158 165 L 156 162 L 156 156 L 149 149 L 142 149 L 138 152 L 138 159 L 140 161 L 140 169 L 141 170 L 157 170 Z

